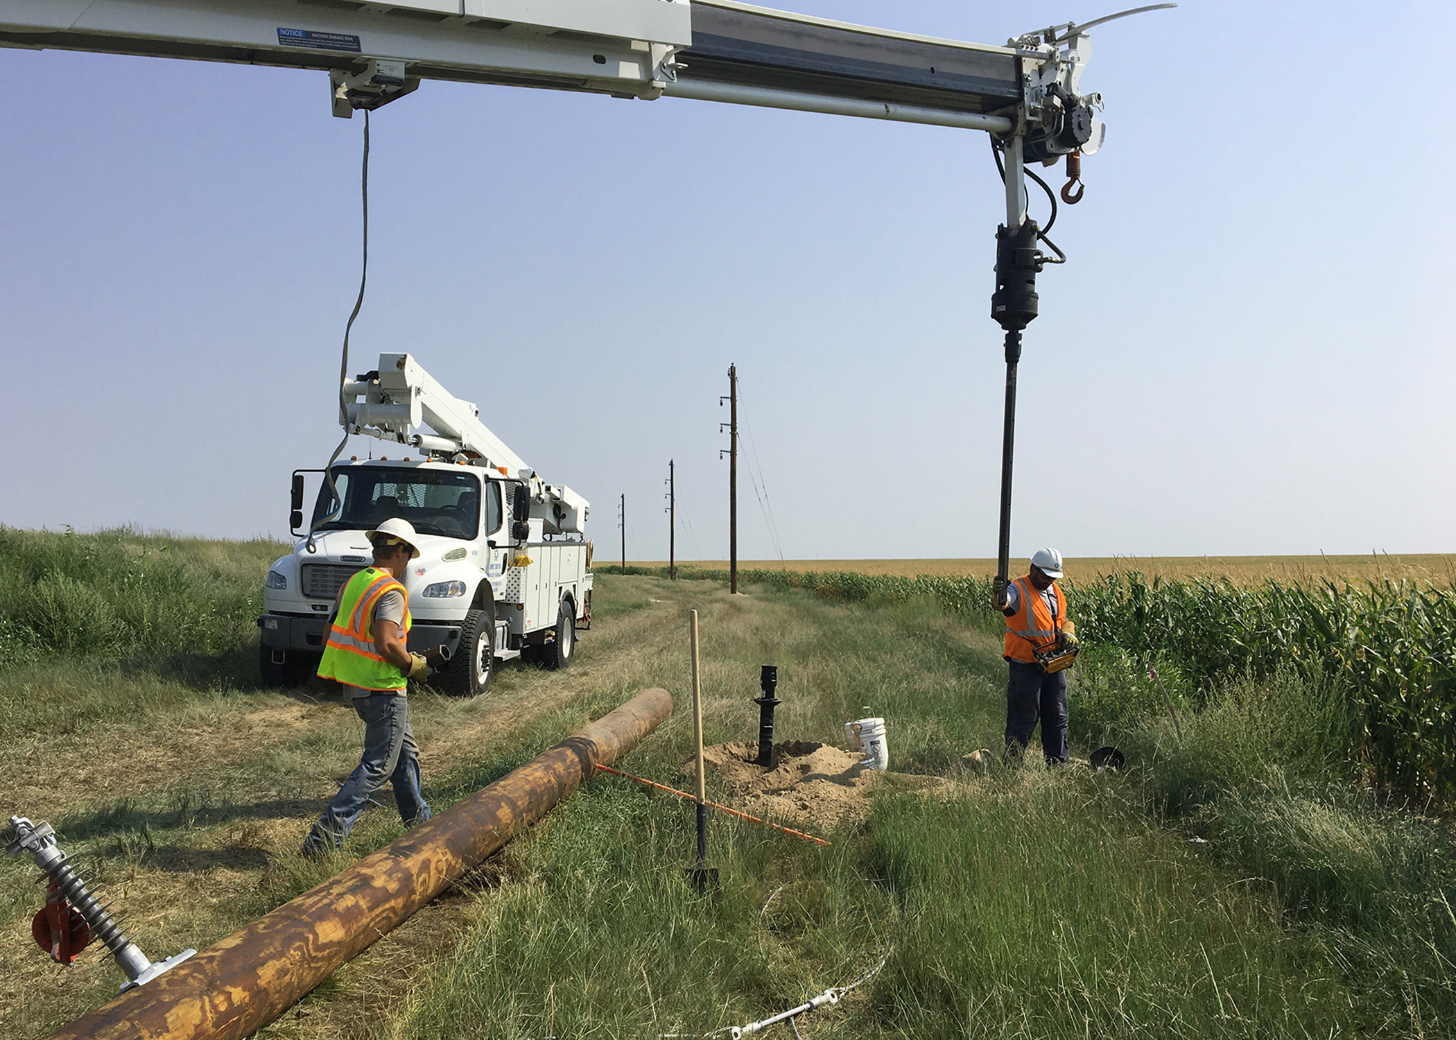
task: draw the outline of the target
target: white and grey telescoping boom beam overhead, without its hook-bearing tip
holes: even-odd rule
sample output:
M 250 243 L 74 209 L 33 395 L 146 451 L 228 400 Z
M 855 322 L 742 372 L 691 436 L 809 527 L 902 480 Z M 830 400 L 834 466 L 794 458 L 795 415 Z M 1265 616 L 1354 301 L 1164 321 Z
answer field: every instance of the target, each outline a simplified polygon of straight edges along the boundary
M 556 25 L 505 17 L 515 12 L 550 20 L 553 9 Z M 997 133 L 1010 119 L 964 117 L 1013 109 L 1022 101 L 1021 58 L 1009 48 L 849 26 L 731 0 L 555 7 L 542 0 L 400 0 L 367 7 L 317 0 L 0 0 L 0 45 L 336 76 L 358 74 L 368 58 L 379 58 L 402 63 L 411 82 L 644 99 L 667 93 Z

